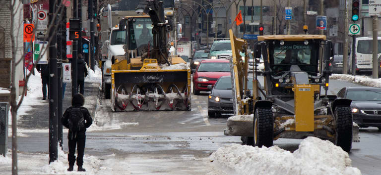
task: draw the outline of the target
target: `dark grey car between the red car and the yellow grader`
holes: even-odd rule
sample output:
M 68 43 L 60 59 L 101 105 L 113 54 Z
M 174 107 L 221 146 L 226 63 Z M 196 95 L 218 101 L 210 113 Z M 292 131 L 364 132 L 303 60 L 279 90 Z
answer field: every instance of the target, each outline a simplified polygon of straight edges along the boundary
M 248 82 L 253 82 L 249 77 Z M 249 89 L 253 89 L 253 84 L 248 84 Z M 210 118 L 221 114 L 233 114 L 233 91 L 230 76 L 220 77 L 208 96 L 208 116 Z

